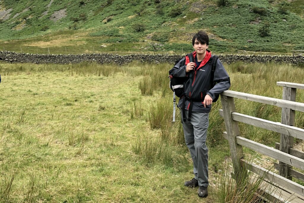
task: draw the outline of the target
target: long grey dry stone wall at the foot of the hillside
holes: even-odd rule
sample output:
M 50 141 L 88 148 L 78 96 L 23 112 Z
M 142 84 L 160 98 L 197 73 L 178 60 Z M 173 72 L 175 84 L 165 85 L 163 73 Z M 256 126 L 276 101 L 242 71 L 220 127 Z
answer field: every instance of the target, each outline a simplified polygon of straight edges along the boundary
M 133 55 L 118 55 L 118 54 L 25 54 L 15 52 L 0 51 L 0 61 L 8 63 L 55 63 L 55 64 L 71 64 L 81 63 L 83 61 L 97 63 L 115 63 L 123 65 L 132 61 L 148 62 L 148 63 L 174 63 L 181 59 L 184 55 L 177 54 L 133 54 Z M 244 63 L 287 63 L 299 64 L 304 63 L 304 56 L 271 56 L 271 55 L 218 55 L 223 63 L 231 64 L 233 62 L 242 61 Z

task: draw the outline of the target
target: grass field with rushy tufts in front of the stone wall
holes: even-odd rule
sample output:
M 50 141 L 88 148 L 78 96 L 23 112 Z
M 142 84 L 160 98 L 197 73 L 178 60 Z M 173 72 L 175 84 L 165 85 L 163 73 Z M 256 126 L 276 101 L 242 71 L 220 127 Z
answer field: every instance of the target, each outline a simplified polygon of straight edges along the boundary
M 200 199 L 183 185 L 193 177 L 192 161 L 180 122 L 171 123 L 171 66 L 0 63 L 0 202 L 218 202 L 229 157 L 221 104 L 209 115 L 209 196 Z M 277 81 L 304 78 L 291 65 L 226 68 L 231 90 L 275 98 L 282 97 Z M 236 100 L 236 108 L 281 120 L 278 107 Z M 297 112 L 295 125 L 304 128 L 304 114 Z M 240 131 L 269 146 L 279 140 L 246 124 Z

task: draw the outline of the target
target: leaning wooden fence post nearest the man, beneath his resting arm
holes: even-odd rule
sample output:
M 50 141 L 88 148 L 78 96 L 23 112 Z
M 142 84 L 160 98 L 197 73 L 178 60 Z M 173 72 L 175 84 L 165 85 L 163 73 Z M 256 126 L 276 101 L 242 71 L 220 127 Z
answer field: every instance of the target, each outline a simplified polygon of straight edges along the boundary
M 235 111 L 234 99 L 230 96 L 221 95 L 223 114 L 230 145 L 230 154 L 232 158 L 235 173 L 241 172 L 240 159 L 244 158 L 243 147 L 237 144 L 236 138 L 240 135 L 237 121 L 233 121 L 231 113 Z

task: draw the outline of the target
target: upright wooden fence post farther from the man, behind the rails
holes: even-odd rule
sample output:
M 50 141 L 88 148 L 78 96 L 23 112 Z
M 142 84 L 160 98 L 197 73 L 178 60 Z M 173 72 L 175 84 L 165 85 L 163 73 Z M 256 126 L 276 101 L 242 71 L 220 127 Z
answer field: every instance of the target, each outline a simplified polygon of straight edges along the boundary
M 291 87 L 283 87 L 283 100 L 295 101 L 296 89 Z M 289 108 L 282 108 L 281 123 L 285 125 L 295 125 L 295 111 Z M 289 148 L 293 147 L 293 137 L 281 134 L 280 136 L 280 151 L 289 154 Z M 292 177 L 288 175 L 290 166 L 286 163 L 279 162 L 279 175 L 289 180 Z

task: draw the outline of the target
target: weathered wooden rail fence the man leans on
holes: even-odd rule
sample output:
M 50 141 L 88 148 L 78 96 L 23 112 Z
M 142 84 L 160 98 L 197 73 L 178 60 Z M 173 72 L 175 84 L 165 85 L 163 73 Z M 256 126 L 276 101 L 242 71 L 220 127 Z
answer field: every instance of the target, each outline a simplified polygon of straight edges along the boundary
M 304 181 L 304 174 L 291 168 L 293 166 L 304 170 L 304 153 L 292 148 L 293 138 L 304 140 L 304 129 L 294 127 L 295 110 L 304 112 L 304 103 L 295 102 L 296 89 L 304 89 L 304 84 L 277 82 L 277 85 L 283 86 L 283 99 L 230 90 L 224 91 L 221 94 L 223 110 L 219 110 L 219 114 L 224 117 L 226 125 L 224 137 L 230 145 L 230 154 L 235 173 L 238 173 L 242 167 L 246 167 L 259 176 L 270 180 L 276 187 L 281 189 L 279 194 L 278 191 L 268 193 L 270 195 L 268 197 L 271 197 L 268 198 L 268 201 L 304 203 L 304 186 L 292 181 L 292 177 Z M 282 107 L 281 123 L 237 113 L 234 98 Z M 274 149 L 243 138 L 240 136 L 238 122 L 281 133 L 280 143 L 276 143 Z M 246 161 L 244 159 L 243 146 L 277 159 L 279 163 L 275 163 L 275 169 L 279 170 L 279 175 Z

